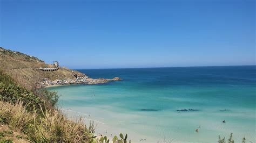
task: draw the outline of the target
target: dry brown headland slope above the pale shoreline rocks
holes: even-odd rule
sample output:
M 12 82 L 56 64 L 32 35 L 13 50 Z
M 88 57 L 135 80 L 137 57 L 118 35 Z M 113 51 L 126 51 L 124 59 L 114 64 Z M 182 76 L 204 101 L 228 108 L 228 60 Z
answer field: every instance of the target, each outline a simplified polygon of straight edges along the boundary
M 11 51 L 0 47 L 0 68 L 12 76 L 18 83 L 27 89 L 33 88 L 35 83 L 43 79 L 50 81 L 63 78 L 83 77 L 84 74 L 68 68 L 59 68 L 57 71 L 41 71 L 40 67 L 54 67 L 30 55 Z

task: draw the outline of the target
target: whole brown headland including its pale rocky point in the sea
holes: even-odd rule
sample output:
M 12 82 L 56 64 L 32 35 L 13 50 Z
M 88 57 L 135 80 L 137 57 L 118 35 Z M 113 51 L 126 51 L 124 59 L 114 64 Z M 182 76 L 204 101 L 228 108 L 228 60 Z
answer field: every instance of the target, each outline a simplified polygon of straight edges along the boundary
M 99 84 L 120 80 L 118 77 L 92 79 L 79 71 L 66 67 L 58 67 L 55 71 L 43 71 L 40 68 L 56 68 L 56 66 L 45 63 L 35 56 L 2 47 L 0 47 L 0 67 L 27 89 L 64 84 Z M 37 87 L 34 87 L 35 85 Z

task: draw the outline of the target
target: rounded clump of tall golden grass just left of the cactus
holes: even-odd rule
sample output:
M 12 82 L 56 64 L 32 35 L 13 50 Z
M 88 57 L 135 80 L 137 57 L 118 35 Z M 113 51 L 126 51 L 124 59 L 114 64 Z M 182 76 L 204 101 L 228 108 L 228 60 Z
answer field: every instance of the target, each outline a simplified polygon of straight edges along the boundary
M 35 141 L 46 142 L 86 142 L 92 137 L 82 118 L 74 122 L 63 116 L 59 110 L 46 111 L 32 125 L 34 132 L 30 135 Z

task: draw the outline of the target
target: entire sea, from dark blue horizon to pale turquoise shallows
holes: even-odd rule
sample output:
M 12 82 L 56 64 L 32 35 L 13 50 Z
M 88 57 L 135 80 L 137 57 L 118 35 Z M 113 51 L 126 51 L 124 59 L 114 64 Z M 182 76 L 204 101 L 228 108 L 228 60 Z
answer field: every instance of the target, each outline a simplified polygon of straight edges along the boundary
M 217 142 L 218 135 L 233 133 L 236 142 L 255 142 L 256 66 L 79 71 L 123 79 L 49 88 L 61 95 L 58 106 L 69 118 L 93 120 L 96 134 L 127 133 L 132 142 Z

